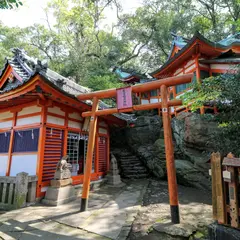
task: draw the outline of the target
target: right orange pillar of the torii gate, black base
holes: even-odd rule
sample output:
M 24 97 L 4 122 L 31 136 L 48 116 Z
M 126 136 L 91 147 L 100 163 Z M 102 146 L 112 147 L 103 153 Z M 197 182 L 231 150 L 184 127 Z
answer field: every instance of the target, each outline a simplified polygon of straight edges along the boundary
M 162 118 L 163 118 L 163 129 L 164 129 L 164 143 L 165 143 L 165 152 L 166 152 L 171 219 L 172 219 L 172 223 L 177 224 L 177 223 L 180 223 L 177 178 L 176 178 L 176 169 L 175 169 L 175 162 L 174 162 L 171 120 L 170 120 L 169 108 L 168 108 L 167 87 L 165 85 L 161 86 L 161 96 L 162 96 Z

